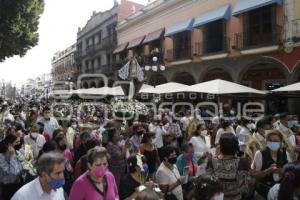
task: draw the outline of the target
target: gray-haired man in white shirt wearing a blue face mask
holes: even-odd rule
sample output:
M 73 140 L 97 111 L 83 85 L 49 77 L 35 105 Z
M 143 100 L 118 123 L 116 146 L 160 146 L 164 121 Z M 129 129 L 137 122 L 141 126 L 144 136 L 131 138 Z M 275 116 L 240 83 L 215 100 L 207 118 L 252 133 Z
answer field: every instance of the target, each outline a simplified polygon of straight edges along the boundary
M 64 200 L 64 163 L 62 154 L 43 154 L 37 162 L 38 177 L 19 189 L 12 200 Z

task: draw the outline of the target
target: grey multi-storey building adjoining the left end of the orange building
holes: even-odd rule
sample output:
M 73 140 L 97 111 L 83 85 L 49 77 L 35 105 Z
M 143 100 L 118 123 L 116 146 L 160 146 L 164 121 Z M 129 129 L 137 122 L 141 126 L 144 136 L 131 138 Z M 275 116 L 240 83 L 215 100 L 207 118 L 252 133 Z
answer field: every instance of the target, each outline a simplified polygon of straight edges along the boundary
M 116 26 L 130 14 L 143 7 L 131 1 L 115 1 L 113 8 L 105 12 L 94 12 L 83 28 L 77 33 L 76 63 L 78 74 L 74 78 L 80 88 L 112 86 L 115 72 L 120 65 L 113 65 L 113 51 L 117 46 Z M 121 64 L 121 63 L 120 63 Z M 106 75 L 108 82 L 104 83 Z

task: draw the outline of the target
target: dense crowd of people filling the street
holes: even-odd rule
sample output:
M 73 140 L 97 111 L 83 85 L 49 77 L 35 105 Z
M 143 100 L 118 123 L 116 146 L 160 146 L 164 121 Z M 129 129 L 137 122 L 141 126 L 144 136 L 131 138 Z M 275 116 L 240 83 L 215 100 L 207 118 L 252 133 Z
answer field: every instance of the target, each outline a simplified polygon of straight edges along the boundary
M 97 105 L 0 103 L 1 200 L 300 199 L 300 126 L 287 113 L 117 120 Z

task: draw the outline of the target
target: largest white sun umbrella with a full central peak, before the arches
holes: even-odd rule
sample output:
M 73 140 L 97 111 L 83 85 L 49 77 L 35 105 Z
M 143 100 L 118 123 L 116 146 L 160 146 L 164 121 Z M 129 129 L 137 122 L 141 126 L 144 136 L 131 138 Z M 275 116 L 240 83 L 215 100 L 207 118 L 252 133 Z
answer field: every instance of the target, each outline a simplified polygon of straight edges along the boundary
M 250 93 L 250 94 L 266 94 L 265 91 L 256 90 L 230 81 L 216 79 L 199 83 L 196 85 L 175 89 L 172 92 L 197 92 L 208 94 L 236 94 L 236 93 Z

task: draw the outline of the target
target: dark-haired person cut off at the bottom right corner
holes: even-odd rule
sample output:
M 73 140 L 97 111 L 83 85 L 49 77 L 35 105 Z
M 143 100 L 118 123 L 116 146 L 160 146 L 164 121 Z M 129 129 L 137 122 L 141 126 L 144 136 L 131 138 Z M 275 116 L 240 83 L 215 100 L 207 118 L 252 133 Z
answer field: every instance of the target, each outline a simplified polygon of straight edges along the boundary
M 300 199 L 300 164 L 290 163 L 284 166 L 281 183 L 270 189 L 268 200 L 298 199 Z

